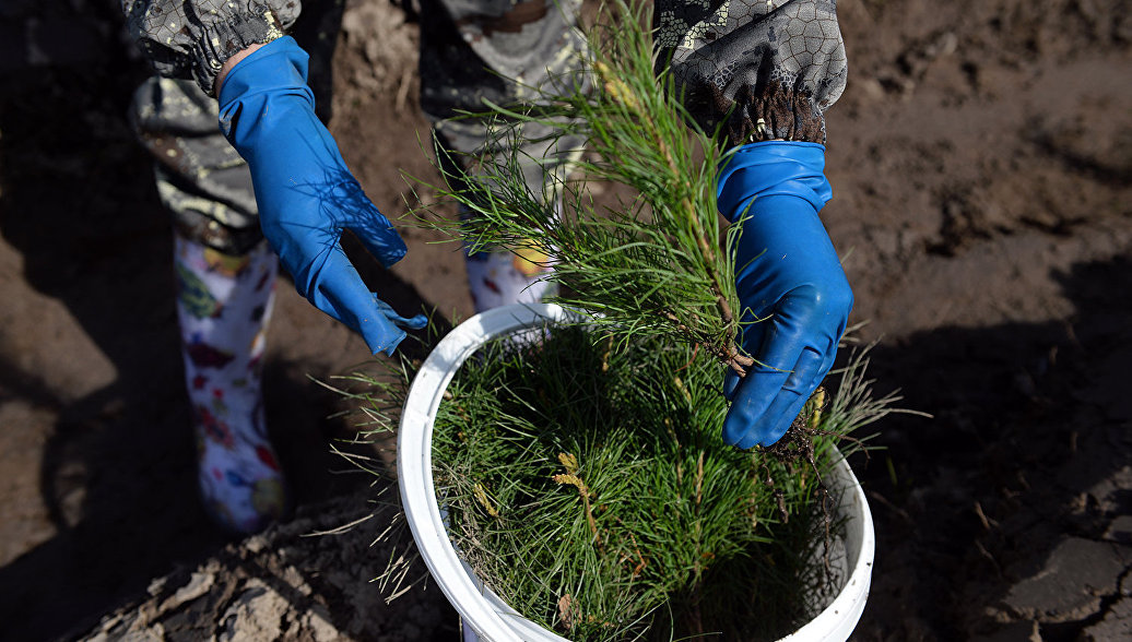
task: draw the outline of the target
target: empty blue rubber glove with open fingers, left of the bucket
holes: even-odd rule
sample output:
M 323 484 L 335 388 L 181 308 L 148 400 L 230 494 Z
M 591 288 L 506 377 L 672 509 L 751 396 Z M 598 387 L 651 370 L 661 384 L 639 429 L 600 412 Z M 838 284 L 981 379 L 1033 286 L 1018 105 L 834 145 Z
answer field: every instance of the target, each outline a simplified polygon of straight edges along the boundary
M 423 328 L 427 320 L 401 316 L 377 298 L 340 238 L 350 229 L 385 267 L 405 255 L 405 243 L 315 116 L 307 62 L 285 36 L 237 63 L 220 93 L 221 130 L 248 162 L 264 236 L 299 293 L 359 332 L 374 354 L 392 355 L 405 338 L 402 328 Z

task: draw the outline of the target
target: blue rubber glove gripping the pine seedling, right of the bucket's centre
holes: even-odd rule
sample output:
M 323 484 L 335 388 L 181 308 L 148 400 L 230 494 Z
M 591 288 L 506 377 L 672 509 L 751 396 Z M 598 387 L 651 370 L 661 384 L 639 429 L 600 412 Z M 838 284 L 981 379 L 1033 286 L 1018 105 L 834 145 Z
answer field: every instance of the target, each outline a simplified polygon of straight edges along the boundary
M 833 365 L 852 292 L 817 211 L 832 190 L 825 147 L 767 141 L 734 150 L 720 165 L 718 205 L 743 226 L 736 286 L 743 349 L 757 362 L 729 372 L 723 441 L 748 449 L 786 434 Z

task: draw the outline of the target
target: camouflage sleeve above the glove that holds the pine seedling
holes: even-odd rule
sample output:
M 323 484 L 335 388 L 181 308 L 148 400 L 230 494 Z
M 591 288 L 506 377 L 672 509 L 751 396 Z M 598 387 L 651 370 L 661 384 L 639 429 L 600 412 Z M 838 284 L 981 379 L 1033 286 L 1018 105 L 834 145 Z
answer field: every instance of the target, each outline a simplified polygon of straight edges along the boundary
M 825 142 L 847 73 L 835 0 L 657 0 L 654 16 L 661 60 L 705 131 Z

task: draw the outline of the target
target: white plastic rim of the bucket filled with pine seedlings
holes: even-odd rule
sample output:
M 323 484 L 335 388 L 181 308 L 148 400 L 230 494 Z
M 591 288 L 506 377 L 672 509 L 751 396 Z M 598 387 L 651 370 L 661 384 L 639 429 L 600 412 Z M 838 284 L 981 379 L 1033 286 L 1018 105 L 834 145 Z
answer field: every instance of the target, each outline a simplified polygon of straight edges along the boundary
M 448 539 L 432 486 L 432 423 L 452 378 L 484 342 L 548 321 L 564 321 L 557 305 L 508 305 L 472 316 L 448 333 L 429 354 L 413 379 L 397 434 L 397 478 L 405 517 L 421 557 L 448 601 L 482 640 L 491 642 L 569 642 L 508 607 L 464 564 Z M 843 641 L 865 610 L 873 571 L 873 517 L 865 493 L 842 459 L 825 476 L 831 489 L 843 492 L 839 517 L 846 519 L 843 544 L 847 576 L 833 601 L 814 619 L 783 640 Z

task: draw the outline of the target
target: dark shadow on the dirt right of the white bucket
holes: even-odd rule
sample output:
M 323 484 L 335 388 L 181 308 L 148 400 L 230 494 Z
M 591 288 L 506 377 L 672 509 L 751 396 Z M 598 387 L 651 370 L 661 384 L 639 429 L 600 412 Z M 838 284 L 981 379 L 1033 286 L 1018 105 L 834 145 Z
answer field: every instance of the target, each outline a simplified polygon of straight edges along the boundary
M 854 467 L 877 523 L 863 640 L 959 640 L 1012 621 L 1074 640 L 1132 567 L 1132 260 L 1054 275 L 1066 322 L 941 328 L 878 347 L 893 417 Z M 1123 483 L 1121 480 L 1123 479 Z M 1023 624 L 1018 624 L 1021 621 Z

